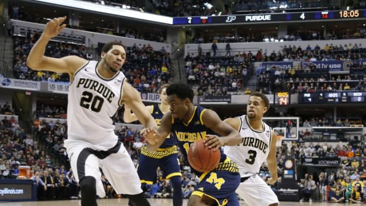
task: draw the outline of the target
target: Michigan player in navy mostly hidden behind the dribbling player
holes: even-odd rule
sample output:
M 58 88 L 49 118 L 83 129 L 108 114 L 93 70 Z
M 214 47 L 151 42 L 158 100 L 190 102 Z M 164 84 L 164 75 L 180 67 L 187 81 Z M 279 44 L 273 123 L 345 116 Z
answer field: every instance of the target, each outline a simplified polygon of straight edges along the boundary
M 169 111 L 169 104 L 166 95 L 166 89 L 169 84 L 160 86 L 159 95 L 161 103 L 146 106 L 146 109 L 154 117 L 158 126 L 160 126 L 161 119 L 164 113 Z M 131 113 L 131 108 L 125 105 L 124 122 L 130 123 L 137 120 L 137 116 Z M 164 178 L 170 179 L 173 187 L 173 205 L 180 206 L 183 203 L 183 195 L 181 188 L 181 173 L 177 154 L 176 141 L 173 136 L 169 135 L 158 151 L 150 152 L 143 146 L 139 163 L 137 166 L 137 173 L 140 177 L 141 187 L 144 189 L 145 185 L 153 185 L 157 181 L 157 169 L 164 172 Z M 129 202 L 129 205 L 131 202 Z

